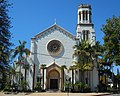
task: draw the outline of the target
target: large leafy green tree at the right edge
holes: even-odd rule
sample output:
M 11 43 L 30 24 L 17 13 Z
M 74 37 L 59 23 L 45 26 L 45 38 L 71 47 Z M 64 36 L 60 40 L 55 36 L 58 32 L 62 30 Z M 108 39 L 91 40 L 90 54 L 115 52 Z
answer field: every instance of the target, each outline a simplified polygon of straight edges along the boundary
M 120 17 L 107 19 L 101 30 L 104 33 L 105 62 L 120 65 Z

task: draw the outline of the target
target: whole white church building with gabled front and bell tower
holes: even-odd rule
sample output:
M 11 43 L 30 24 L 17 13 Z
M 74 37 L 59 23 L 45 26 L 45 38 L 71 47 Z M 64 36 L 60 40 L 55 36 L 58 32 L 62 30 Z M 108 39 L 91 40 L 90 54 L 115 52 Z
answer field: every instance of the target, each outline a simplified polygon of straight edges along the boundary
M 27 72 L 31 90 L 35 88 L 37 82 L 41 82 L 41 87 L 45 90 L 64 90 L 65 82 L 79 81 L 77 70 L 74 70 L 72 80 L 72 72 L 63 67 L 75 65 L 73 46 L 77 42 L 76 39 L 89 40 L 95 44 L 96 37 L 91 6 L 79 5 L 77 14 L 76 35 L 55 23 L 31 38 L 31 54 L 28 58 L 30 69 Z M 86 74 L 84 75 L 86 78 Z M 94 68 L 88 75 L 90 77 L 88 84 L 94 91 L 98 85 L 97 69 Z

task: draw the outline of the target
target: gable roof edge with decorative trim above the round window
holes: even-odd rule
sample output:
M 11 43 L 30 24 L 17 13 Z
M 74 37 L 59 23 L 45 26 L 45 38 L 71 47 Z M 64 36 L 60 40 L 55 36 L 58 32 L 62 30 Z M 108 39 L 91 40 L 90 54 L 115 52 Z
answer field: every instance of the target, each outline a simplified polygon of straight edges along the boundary
M 70 32 L 68 32 L 67 30 L 65 30 L 64 28 L 62 28 L 61 26 L 54 24 L 52 26 L 50 26 L 49 28 L 43 30 L 42 32 L 38 33 L 37 35 L 35 35 L 34 37 L 32 37 L 31 39 L 37 39 L 40 38 L 41 36 L 49 33 L 51 30 L 59 30 L 60 32 L 62 32 L 63 34 L 65 34 L 66 36 L 68 36 L 69 38 L 75 40 L 75 36 L 73 34 L 71 34 Z

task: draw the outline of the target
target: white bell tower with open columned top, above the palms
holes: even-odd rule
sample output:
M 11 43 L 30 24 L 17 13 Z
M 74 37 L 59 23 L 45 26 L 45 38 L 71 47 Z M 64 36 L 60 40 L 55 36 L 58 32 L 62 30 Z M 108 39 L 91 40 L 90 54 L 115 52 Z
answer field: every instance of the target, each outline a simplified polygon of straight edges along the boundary
M 78 7 L 78 22 L 76 28 L 76 38 L 88 40 L 91 44 L 95 43 L 94 24 L 92 23 L 92 8 L 88 4 L 81 4 Z

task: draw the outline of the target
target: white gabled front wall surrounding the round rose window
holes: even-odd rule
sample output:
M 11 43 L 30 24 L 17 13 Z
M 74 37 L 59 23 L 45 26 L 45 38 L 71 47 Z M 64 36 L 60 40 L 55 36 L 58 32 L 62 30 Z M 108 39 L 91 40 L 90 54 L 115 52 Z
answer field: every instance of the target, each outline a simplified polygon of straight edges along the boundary
M 47 45 L 51 40 L 58 40 L 63 45 L 63 50 L 61 54 L 57 56 L 51 56 L 47 50 Z M 53 64 L 54 62 L 58 66 L 66 65 L 67 67 L 73 65 L 73 46 L 75 41 L 61 32 L 58 29 L 51 29 L 47 34 L 31 41 L 31 58 L 35 63 L 35 76 L 37 77 L 40 74 L 40 66 L 46 64 L 47 67 Z M 34 47 L 33 47 L 34 46 Z M 42 74 L 42 73 L 41 73 Z M 70 73 L 69 73 L 70 74 Z M 46 84 L 46 72 L 45 72 L 45 84 Z M 32 80 L 32 79 L 31 79 Z M 36 80 L 35 80 L 36 82 Z M 45 87 L 45 85 L 44 85 Z

